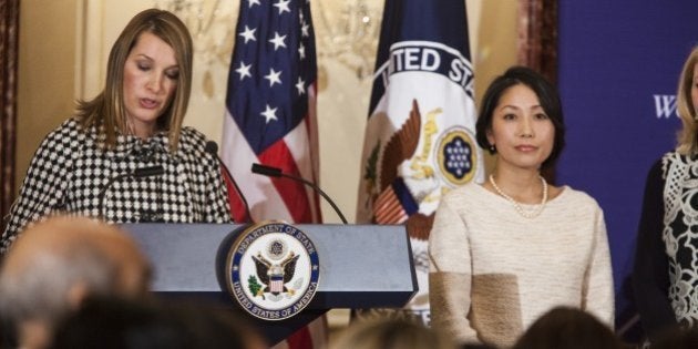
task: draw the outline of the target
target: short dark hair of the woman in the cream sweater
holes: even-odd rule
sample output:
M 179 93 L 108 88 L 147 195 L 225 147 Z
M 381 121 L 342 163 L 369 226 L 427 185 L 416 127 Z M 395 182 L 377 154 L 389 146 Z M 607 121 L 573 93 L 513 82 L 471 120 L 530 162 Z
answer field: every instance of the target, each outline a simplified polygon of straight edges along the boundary
M 492 81 L 482 97 L 480 115 L 475 124 L 478 144 L 482 148 L 489 150 L 490 153 L 496 152 L 492 144 L 490 144 L 490 141 L 487 141 L 487 132 L 492 131 L 492 115 L 500 103 L 502 94 L 510 88 L 519 84 L 526 85 L 533 90 L 545 114 L 547 114 L 555 127 L 553 151 L 542 164 L 543 168 L 551 167 L 557 161 L 560 153 L 565 146 L 565 123 L 563 121 L 562 104 L 557 89 L 543 75 L 530 68 L 512 66 L 506 70 L 503 75 Z

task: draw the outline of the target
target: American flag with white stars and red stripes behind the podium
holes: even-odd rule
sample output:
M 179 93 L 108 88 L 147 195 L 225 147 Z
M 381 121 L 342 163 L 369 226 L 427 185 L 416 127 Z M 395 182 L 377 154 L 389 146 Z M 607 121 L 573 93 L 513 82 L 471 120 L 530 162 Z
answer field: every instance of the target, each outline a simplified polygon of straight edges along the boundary
M 253 163 L 318 184 L 315 32 L 307 0 L 242 0 L 228 73 L 222 157 L 253 220 L 320 223 L 319 197 L 287 178 L 250 172 Z M 233 203 L 234 217 L 244 217 Z M 279 345 L 326 347 L 325 319 Z

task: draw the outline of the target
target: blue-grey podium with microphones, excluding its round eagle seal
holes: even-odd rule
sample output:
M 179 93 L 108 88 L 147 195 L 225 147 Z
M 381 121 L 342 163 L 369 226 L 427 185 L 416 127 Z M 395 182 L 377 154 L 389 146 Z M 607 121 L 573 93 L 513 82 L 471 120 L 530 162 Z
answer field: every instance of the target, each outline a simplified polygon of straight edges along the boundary
M 404 226 L 294 224 L 315 244 L 320 261 L 312 301 L 285 320 L 248 316 L 269 345 L 331 308 L 400 308 L 418 290 Z M 238 309 L 227 291 L 225 263 L 240 224 L 123 224 L 154 268 L 153 291 L 163 297 L 205 298 Z

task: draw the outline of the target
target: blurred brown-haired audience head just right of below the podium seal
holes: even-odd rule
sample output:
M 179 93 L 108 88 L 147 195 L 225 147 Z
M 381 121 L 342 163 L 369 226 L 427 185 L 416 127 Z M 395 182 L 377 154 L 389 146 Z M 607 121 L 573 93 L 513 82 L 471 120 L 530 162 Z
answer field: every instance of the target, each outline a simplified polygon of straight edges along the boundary
M 404 319 L 372 319 L 352 322 L 331 349 L 453 349 L 440 332 Z

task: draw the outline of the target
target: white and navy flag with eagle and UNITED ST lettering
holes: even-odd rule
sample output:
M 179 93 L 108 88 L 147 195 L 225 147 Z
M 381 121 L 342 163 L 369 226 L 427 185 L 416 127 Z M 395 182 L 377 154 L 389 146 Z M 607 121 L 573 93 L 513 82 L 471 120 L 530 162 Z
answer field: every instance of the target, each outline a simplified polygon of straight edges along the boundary
M 429 325 L 434 211 L 450 189 L 484 177 L 465 3 L 387 0 L 383 13 L 357 223 L 407 224 L 420 290 L 401 311 Z

